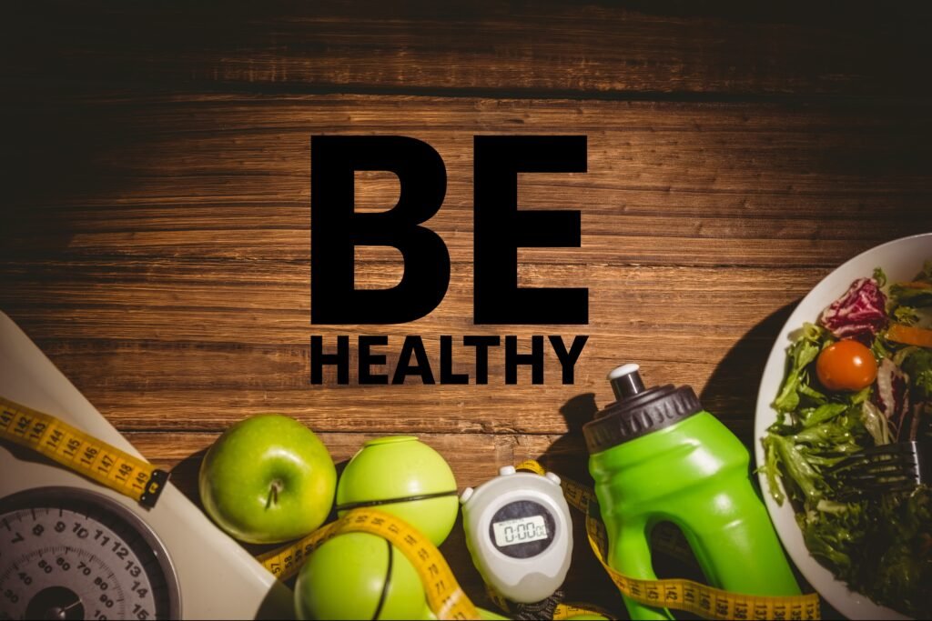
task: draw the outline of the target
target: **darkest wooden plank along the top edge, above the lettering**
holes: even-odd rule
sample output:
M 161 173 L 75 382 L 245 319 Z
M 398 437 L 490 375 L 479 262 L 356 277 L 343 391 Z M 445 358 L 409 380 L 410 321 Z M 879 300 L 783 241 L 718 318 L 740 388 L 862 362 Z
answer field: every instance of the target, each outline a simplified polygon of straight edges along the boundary
M 21 58 L 9 73 L 23 80 L 488 96 L 929 93 L 915 79 L 930 45 L 918 3 L 43 2 L 6 12 L 3 40 Z

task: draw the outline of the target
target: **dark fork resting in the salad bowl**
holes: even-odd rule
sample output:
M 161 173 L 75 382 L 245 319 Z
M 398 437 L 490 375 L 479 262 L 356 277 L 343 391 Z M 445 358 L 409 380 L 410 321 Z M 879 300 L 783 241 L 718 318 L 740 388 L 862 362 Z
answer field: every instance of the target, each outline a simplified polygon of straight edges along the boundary
M 841 499 L 910 490 L 932 482 L 929 442 L 897 442 L 859 451 L 829 470 Z

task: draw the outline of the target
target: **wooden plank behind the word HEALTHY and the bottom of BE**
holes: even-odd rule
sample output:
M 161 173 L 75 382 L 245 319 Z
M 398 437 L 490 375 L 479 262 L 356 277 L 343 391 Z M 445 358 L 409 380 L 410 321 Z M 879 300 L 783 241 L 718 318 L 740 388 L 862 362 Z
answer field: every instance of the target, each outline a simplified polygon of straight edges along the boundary
M 593 320 L 588 326 L 514 326 L 496 332 L 472 325 L 472 278 L 465 266 L 454 270 L 454 279 L 466 286 L 451 290 L 441 308 L 422 320 L 399 326 L 308 327 L 305 265 L 250 262 L 248 269 L 225 270 L 199 263 L 190 265 L 187 275 L 176 266 L 152 266 L 144 277 L 130 277 L 125 264 L 115 272 L 114 263 L 108 263 L 76 263 L 67 274 L 80 277 L 48 279 L 36 279 L 40 270 L 34 264 L 13 263 L 22 272 L 10 280 L 16 282 L 18 297 L 6 307 L 14 316 L 21 308 L 34 309 L 28 319 L 34 338 L 119 425 L 217 429 L 249 412 L 276 410 L 315 429 L 386 432 L 560 433 L 566 425 L 559 412 L 564 402 L 594 393 L 606 403 L 610 389 L 604 373 L 626 358 L 638 358 L 658 383 L 698 387 L 715 375 L 708 407 L 743 425 L 739 421 L 748 420 L 756 376 L 783 317 L 780 312 L 771 316 L 774 308 L 791 304 L 826 272 L 545 265 L 538 271 L 556 286 L 569 286 L 576 278 L 591 283 Z M 53 303 L 43 303 L 48 296 Z M 261 331 L 251 328 L 256 322 Z M 532 333 L 566 334 L 568 342 L 574 333 L 589 334 L 576 384 L 559 383 L 551 355 L 547 385 L 530 385 L 528 373 L 521 375 L 520 385 L 504 385 L 499 353 L 490 357 L 490 381 L 484 386 L 416 381 L 343 386 L 336 385 L 333 373 L 325 385 L 308 385 L 310 333 L 329 335 L 328 347 L 335 346 L 340 333 L 387 334 L 391 341 L 384 351 L 396 357 L 404 335 L 419 334 L 437 363 L 440 334 L 512 330 L 522 335 L 524 348 Z M 742 336 L 730 353 L 735 338 Z M 473 373 L 471 350 L 460 346 L 457 352 L 457 370 Z M 757 362 L 742 370 L 720 367 L 729 355 Z M 95 364 L 89 365 L 89 358 Z M 388 365 L 389 371 L 393 368 Z M 355 384 L 355 369 L 351 376 Z

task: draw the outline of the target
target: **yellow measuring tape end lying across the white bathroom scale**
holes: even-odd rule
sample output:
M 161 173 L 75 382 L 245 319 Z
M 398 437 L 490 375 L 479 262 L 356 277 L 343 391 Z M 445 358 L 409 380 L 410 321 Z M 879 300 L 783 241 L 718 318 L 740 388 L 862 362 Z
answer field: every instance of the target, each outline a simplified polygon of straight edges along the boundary
M 62 420 L 0 397 L 0 439 L 32 449 L 138 500 L 156 506 L 169 473 Z

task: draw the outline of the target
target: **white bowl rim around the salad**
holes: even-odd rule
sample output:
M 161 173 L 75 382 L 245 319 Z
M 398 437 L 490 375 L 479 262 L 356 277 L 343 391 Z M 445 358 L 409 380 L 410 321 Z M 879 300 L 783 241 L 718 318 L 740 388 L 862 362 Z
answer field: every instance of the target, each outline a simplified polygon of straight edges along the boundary
M 802 302 L 789 316 L 786 325 L 774 343 L 763 370 L 761 388 L 758 391 L 757 413 L 754 419 L 754 452 L 758 466 L 764 463 L 761 439 L 767 435 L 767 427 L 776 421 L 776 411 L 771 407 L 783 382 L 786 368 L 787 347 L 791 343 L 789 334 L 802 327 L 806 321 L 816 322 L 822 309 L 837 300 L 857 278 L 870 277 L 875 267 L 882 267 L 890 282 L 909 280 L 922 269 L 923 262 L 932 257 L 932 233 L 904 237 L 858 254 L 825 277 L 816 288 L 809 291 Z M 841 580 L 809 554 L 802 541 L 802 531 L 797 525 L 793 508 L 788 501 L 783 506 L 774 502 L 766 476 L 759 474 L 761 492 L 776 533 L 783 546 L 806 580 L 838 612 L 851 619 L 908 619 L 895 610 L 880 606 L 870 598 L 850 590 Z

